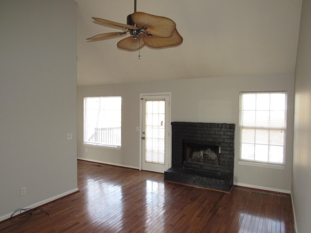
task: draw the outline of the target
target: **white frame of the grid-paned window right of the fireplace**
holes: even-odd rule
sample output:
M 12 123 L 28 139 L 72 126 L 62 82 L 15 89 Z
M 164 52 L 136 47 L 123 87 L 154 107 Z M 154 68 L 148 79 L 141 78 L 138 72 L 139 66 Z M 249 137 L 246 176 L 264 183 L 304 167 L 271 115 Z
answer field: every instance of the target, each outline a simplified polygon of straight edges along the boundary
M 279 131 L 284 131 L 284 137 L 283 137 L 283 162 L 282 163 L 277 163 L 277 162 L 269 162 L 269 161 L 259 161 L 255 159 L 255 154 L 254 154 L 254 159 L 245 159 L 242 158 L 242 130 L 243 128 L 251 128 L 251 127 L 243 127 L 243 119 L 242 119 L 242 112 L 243 112 L 243 94 L 285 94 L 285 103 L 284 103 L 284 128 L 269 128 L 269 127 L 254 127 L 254 129 L 267 129 L 268 130 L 279 130 Z M 240 92 L 239 95 L 240 102 L 239 102 L 239 128 L 240 128 L 240 154 L 239 154 L 239 164 L 242 165 L 251 165 L 251 166 L 262 166 L 262 167 L 273 167 L 277 169 L 284 169 L 285 164 L 286 164 L 286 135 L 287 135 L 287 102 L 288 102 L 288 93 L 287 91 L 252 91 L 252 92 Z M 255 110 L 257 111 L 257 110 Z M 269 112 L 271 112 L 271 109 L 269 109 Z M 270 121 L 269 121 L 270 122 Z M 256 143 L 254 142 L 254 145 Z M 271 143 L 267 144 L 268 147 L 271 145 Z M 269 160 L 269 159 L 267 159 Z

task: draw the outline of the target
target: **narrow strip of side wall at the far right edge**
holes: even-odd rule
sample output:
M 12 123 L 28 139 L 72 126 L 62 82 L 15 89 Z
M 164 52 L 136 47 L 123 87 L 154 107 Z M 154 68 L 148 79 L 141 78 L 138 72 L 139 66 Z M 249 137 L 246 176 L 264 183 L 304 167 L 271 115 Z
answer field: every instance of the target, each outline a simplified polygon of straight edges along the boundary
M 297 233 L 311 229 L 311 1 L 303 0 L 295 74 L 292 198 Z

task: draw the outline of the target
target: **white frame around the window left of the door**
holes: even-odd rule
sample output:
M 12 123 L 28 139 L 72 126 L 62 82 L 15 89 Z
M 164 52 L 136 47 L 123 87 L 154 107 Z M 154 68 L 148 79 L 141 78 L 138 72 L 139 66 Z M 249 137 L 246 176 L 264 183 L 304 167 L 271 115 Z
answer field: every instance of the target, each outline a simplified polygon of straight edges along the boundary
M 121 99 L 121 106 L 120 106 L 120 111 L 121 111 L 121 116 L 120 116 L 120 145 L 114 145 L 114 144 L 104 144 L 104 143 L 99 143 L 99 142 L 91 142 L 91 141 L 88 141 L 86 140 L 86 125 L 87 125 L 87 113 L 86 113 L 86 101 L 87 99 L 96 99 L 96 98 L 120 98 Z M 84 108 L 83 108 L 83 112 L 84 112 L 84 119 L 83 119 L 83 124 L 84 124 L 84 129 L 83 129 L 83 144 L 87 144 L 87 145 L 92 145 L 92 146 L 96 146 L 96 147 L 109 147 L 109 148 L 121 148 L 122 146 L 122 140 L 121 140 L 121 129 L 122 129 L 122 97 L 121 96 L 87 96 L 87 97 L 84 97 Z M 112 128 L 115 128 L 115 127 L 112 127 Z

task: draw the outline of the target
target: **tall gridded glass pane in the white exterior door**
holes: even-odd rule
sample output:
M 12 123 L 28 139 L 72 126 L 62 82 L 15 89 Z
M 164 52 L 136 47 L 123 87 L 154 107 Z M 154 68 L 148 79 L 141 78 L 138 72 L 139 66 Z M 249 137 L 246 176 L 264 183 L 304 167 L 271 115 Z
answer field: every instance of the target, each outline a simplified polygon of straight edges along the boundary
M 164 164 L 165 101 L 146 100 L 145 161 Z

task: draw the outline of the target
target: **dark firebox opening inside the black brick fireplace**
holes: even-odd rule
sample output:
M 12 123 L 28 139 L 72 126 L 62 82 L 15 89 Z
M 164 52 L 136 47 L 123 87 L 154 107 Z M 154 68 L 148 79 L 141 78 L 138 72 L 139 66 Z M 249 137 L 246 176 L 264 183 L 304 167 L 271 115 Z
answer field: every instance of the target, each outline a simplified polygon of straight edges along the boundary
M 205 141 L 183 140 L 183 167 L 220 171 L 221 147 Z

